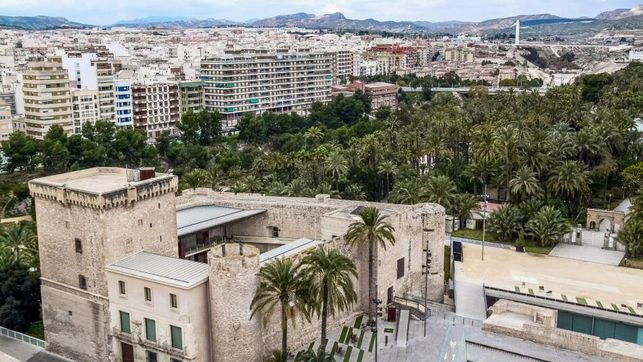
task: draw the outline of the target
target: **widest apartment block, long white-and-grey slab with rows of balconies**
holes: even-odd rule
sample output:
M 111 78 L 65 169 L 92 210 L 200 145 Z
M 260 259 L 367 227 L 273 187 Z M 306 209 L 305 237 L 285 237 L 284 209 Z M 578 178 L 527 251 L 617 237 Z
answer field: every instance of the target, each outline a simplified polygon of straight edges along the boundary
M 205 108 L 228 126 L 253 112 L 305 112 L 330 100 L 332 54 L 311 51 L 237 51 L 201 62 Z

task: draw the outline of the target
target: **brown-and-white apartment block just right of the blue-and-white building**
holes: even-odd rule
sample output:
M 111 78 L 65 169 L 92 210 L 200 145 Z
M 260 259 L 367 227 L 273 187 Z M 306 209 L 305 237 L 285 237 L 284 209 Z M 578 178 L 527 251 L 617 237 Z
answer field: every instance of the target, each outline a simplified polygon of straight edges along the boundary
M 170 82 L 132 85 L 134 126 L 156 138 L 167 131 L 175 134 L 181 117 L 179 86 Z

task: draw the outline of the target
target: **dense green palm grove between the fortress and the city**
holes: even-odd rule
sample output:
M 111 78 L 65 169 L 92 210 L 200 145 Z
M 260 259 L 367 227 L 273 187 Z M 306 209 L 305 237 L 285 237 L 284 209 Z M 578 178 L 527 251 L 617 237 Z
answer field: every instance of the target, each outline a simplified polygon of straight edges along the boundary
M 75 135 L 54 126 L 44 140 L 14 132 L 2 142 L 0 218 L 32 213 L 26 181 L 33 177 L 155 166 L 178 175 L 181 189 L 436 202 L 461 226 L 486 188 L 505 204 L 489 222 L 494 233 L 541 245 L 584 224 L 587 208 L 631 197 L 635 212 L 619 239 L 629 257 L 643 257 L 643 142 L 635 127 L 643 117 L 643 64 L 585 75 L 544 95 L 491 96 L 454 75 L 404 77 L 422 91 L 400 92 L 395 109 L 371 109 L 357 92 L 314 104 L 306 115 L 246 114 L 232 131 L 222 129 L 218 113 L 186 113 L 177 134 L 156 140 L 108 121 Z M 436 81 L 471 91 L 431 92 Z M 10 255 L 3 251 L 2 259 Z M 22 263 L 7 270 L 24 269 Z

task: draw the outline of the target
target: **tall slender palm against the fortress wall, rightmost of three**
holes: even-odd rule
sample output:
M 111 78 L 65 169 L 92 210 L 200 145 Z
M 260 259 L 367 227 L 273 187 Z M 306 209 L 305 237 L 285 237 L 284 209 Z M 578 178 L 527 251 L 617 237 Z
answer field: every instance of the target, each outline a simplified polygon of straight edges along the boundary
M 375 207 L 367 207 L 361 220 L 349 225 L 344 239 L 350 246 L 368 244 L 368 318 L 373 321 L 373 251 L 376 245 L 386 250 L 386 244 L 395 244 L 395 229 L 384 221 L 385 216 Z

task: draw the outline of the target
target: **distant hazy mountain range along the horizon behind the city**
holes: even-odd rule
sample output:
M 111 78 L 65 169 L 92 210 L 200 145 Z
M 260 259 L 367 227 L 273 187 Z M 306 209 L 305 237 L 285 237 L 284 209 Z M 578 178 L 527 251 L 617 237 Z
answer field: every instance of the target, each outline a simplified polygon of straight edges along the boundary
M 639 19 L 640 17 L 640 19 Z M 623 19 L 634 19 L 634 24 L 643 22 L 643 5 L 632 9 L 616 9 L 598 14 L 595 18 L 563 18 L 552 14 L 518 15 L 507 18 L 489 19 L 480 22 L 467 21 L 379 21 L 375 19 L 349 19 L 342 13 L 314 15 L 296 13 L 279 15 L 266 19 L 253 19 L 246 22 L 235 22 L 227 19 L 192 19 L 181 16 L 172 17 L 146 17 L 141 19 L 118 21 L 112 27 L 160 28 L 160 29 L 185 29 L 185 28 L 213 28 L 221 26 L 246 26 L 246 27 L 301 27 L 309 29 L 353 30 L 392 33 L 471 33 L 479 34 L 489 31 L 511 28 L 516 20 L 520 20 L 524 27 L 558 29 L 569 24 L 588 24 L 592 26 L 579 26 L 576 28 L 595 29 L 601 27 L 618 28 L 619 26 L 631 27 L 632 22 Z M 92 25 L 80 24 L 59 17 L 10 17 L 0 16 L 0 28 L 15 29 L 54 29 L 54 28 L 87 28 Z

